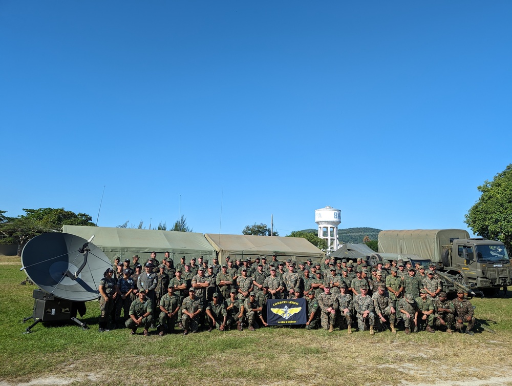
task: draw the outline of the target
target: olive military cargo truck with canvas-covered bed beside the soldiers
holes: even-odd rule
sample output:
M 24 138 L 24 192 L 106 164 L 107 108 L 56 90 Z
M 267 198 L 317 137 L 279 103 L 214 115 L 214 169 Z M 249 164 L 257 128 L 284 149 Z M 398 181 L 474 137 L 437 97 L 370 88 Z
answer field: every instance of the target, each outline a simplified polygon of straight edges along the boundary
M 470 238 L 463 229 L 381 231 L 378 249 L 429 259 L 440 271 L 460 275 L 470 288 L 499 290 L 512 284 L 512 267 L 504 244 Z

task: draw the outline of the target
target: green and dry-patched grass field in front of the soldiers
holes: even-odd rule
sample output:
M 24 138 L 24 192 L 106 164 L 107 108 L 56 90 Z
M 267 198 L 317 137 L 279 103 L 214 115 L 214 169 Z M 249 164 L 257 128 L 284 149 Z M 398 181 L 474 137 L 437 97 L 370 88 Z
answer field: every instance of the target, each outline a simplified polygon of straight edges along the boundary
M 426 332 L 370 336 L 260 329 L 187 336 L 100 334 L 97 302 L 76 324 L 39 323 L 23 334 L 35 286 L 17 257 L 0 256 L 0 386 L 70 385 L 512 385 L 512 300 L 473 299 L 496 334 Z M 494 323 L 495 322 L 495 323 Z

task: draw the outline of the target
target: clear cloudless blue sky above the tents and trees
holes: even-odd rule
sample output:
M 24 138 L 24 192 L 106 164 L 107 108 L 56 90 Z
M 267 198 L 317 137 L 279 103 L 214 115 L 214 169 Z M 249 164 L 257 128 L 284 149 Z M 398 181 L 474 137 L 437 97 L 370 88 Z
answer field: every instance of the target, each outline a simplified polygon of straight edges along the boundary
M 465 228 L 512 162 L 509 1 L 0 2 L 0 209 Z M 222 208 L 222 209 L 221 209 Z

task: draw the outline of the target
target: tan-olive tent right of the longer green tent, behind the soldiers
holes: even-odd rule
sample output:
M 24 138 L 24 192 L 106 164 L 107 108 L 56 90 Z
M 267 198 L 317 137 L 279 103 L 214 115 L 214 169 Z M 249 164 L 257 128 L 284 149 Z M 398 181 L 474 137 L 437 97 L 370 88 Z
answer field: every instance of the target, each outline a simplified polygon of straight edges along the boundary
M 273 253 L 277 255 L 280 261 L 289 258 L 296 261 L 307 260 L 308 258 L 313 261 L 321 261 L 325 256 L 324 252 L 302 237 L 211 233 L 205 234 L 205 237 L 218 252 L 220 262 L 225 262 L 228 255 L 231 260 L 238 258 L 254 260 L 257 256 L 266 256 L 267 263 L 270 262 Z

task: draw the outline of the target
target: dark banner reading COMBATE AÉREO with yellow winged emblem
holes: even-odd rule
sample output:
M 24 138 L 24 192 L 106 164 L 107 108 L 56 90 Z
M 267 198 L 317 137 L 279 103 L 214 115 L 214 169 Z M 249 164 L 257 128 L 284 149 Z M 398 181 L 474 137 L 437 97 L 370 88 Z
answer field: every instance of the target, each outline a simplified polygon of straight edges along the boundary
M 268 299 L 267 323 L 270 326 L 306 324 L 306 299 Z

